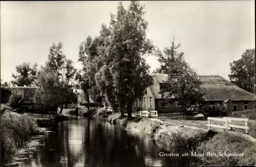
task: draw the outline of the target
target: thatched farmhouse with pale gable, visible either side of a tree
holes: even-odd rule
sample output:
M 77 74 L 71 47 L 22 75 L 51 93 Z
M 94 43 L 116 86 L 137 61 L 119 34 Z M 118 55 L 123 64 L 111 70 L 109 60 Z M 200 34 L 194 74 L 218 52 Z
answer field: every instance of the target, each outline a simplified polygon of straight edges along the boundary
M 170 97 L 173 102 L 164 102 L 158 93 L 168 75 L 163 70 L 162 73 L 151 74 L 153 85 L 146 89 L 146 94 L 141 99 L 136 99 L 133 103 L 133 111 L 157 110 L 159 113 L 179 113 L 182 110 L 180 103 L 174 96 Z M 231 111 L 255 108 L 255 95 L 249 93 L 232 84 L 219 75 L 198 76 L 203 82 L 201 89 L 205 93 L 203 96 L 206 105 L 214 103 L 224 103 Z M 231 102 L 229 102 L 229 99 Z

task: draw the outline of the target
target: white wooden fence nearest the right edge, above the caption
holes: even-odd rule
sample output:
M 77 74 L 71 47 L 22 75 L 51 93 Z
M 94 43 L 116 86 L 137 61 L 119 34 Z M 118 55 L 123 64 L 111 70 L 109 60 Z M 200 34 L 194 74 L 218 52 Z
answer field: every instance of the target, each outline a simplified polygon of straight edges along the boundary
M 210 124 L 211 120 L 225 122 L 225 126 Z M 245 126 L 230 124 L 230 123 L 232 123 L 232 121 L 245 122 Z M 247 118 L 231 118 L 231 117 L 214 118 L 214 117 L 208 117 L 207 126 L 208 126 L 208 130 L 210 130 L 210 127 L 225 129 L 226 131 L 231 130 L 231 128 L 240 128 L 240 129 L 245 129 L 245 133 L 248 133 L 248 129 L 249 129 L 248 122 L 249 122 L 249 119 L 247 119 Z

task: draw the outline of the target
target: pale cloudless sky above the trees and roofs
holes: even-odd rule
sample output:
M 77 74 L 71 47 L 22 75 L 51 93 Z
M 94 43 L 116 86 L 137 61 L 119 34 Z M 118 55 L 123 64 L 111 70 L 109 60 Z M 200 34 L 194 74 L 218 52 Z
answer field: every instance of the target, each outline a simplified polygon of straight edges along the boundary
M 255 47 L 254 1 L 142 1 L 148 21 L 147 38 L 159 49 L 175 42 L 199 75 L 228 79 L 229 63 Z M 23 62 L 45 64 L 52 43 L 61 41 L 63 53 L 81 68 L 78 46 L 99 35 L 109 24 L 117 1 L 3 2 L 1 1 L 1 79 L 10 81 Z M 129 1 L 124 1 L 125 8 Z M 151 70 L 157 57 L 146 57 Z

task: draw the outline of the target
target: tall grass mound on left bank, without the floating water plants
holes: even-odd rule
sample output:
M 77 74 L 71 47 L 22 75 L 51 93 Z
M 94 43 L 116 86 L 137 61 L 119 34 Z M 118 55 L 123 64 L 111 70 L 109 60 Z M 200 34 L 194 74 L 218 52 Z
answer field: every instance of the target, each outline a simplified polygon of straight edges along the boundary
M 1 163 L 8 161 L 17 148 L 23 147 L 30 136 L 36 134 L 44 134 L 44 131 L 32 117 L 17 114 L 1 104 Z

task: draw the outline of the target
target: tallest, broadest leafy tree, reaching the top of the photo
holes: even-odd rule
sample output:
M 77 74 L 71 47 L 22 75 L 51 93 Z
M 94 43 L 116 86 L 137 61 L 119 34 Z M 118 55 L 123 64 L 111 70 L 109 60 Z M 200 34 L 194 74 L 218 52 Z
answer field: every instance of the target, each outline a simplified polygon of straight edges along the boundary
M 152 84 L 144 55 L 151 53 L 154 46 L 146 38 L 148 23 L 144 13 L 144 6 L 138 1 L 132 1 L 127 10 L 121 2 L 118 4 L 117 14 L 111 16 L 110 36 L 104 46 L 104 65 L 99 70 L 102 78 L 109 81 L 108 85 L 112 85 L 105 89 L 111 89 L 116 100 L 108 97 L 108 101 L 112 101 L 112 106 L 116 103 L 120 106 L 121 116 L 126 109 L 129 118 L 135 98 L 142 97 Z M 102 83 L 102 79 L 99 82 Z

